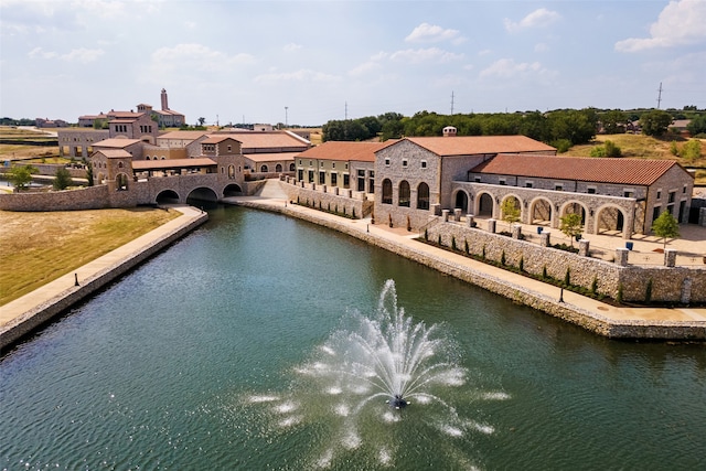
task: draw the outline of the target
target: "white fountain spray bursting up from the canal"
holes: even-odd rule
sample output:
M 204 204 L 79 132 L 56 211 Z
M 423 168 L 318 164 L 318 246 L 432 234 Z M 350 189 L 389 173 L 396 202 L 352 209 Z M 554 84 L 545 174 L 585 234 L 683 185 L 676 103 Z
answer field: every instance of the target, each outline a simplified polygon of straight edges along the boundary
M 319 458 L 308 467 L 328 468 L 336 454 L 353 450 L 355 460 L 367 453 L 375 457 L 375 465 L 392 464 L 411 440 L 417 448 L 438 452 L 441 441 L 441 447 L 450 446 L 449 437 L 468 440 L 471 431 L 494 431 L 463 418 L 456 403 L 468 407 L 477 399 L 507 396 L 463 387 L 469 372 L 459 366 L 451 335 L 440 324 L 427 327 L 405 315 L 393 280 L 385 282 L 372 315 L 354 311 L 295 370 L 289 394 L 248 398 L 252 405 L 268 405 L 270 422 L 280 432 L 307 426 L 329 429 L 323 435 L 333 439 L 323 440 L 324 448 L 315 451 Z

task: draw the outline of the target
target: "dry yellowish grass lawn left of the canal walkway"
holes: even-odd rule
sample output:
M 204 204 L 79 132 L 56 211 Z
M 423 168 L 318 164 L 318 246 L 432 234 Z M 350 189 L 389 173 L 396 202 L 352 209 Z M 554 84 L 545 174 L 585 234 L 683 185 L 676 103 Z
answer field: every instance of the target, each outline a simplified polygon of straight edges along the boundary
M 0 306 L 178 217 L 174 210 L 0 211 Z

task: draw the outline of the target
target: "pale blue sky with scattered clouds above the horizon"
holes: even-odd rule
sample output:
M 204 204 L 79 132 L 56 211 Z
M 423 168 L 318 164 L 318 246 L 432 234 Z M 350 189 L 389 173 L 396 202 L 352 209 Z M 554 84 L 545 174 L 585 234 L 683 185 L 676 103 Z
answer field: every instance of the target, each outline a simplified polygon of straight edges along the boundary
M 0 87 L 69 122 L 162 88 L 192 125 L 704 109 L 706 0 L 2 0 Z

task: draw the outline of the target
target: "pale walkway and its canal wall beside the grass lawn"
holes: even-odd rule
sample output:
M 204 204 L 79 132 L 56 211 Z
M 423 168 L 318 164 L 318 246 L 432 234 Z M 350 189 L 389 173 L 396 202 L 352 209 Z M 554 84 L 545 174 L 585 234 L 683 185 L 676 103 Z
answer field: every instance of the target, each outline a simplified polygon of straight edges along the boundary
M 192 206 L 170 206 L 182 215 L 115 250 L 0 307 L 0 351 L 73 303 L 92 295 L 207 221 Z

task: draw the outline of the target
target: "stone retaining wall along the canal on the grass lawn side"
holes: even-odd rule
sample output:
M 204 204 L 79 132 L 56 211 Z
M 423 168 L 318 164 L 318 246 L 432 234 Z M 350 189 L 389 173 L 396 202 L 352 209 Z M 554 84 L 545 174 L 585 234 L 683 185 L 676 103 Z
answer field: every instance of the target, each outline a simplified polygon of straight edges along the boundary
M 26 312 L 22 318 L 15 319 L 9 324 L 3 325 L 0 331 L 0 350 L 13 344 L 22 336 L 50 321 L 52 318 L 61 314 L 75 303 L 93 295 L 118 277 L 125 275 L 150 258 L 152 255 L 205 223 L 207 220 L 208 214 L 202 213 L 197 218 L 192 218 L 169 234 L 165 234 L 163 237 L 152 240 L 147 247 L 130 254 L 119 263 L 106 267 L 99 272 L 82 280 L 81 286 L 67 288 L 60 295 L 55 296 L 51 301 Z

